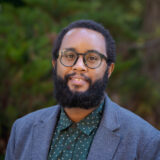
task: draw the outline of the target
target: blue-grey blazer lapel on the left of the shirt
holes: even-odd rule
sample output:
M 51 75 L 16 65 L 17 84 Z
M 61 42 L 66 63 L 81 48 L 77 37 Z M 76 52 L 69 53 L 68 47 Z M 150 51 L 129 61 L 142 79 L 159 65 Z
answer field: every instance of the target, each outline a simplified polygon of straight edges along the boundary
M 35 124 L 32 138 L 32 160 L 47 160 L 49 147 L 56 126 L 59 108 L 54 106 L 52 115 Z M 57 108 L 56 108 L 57 107 Z

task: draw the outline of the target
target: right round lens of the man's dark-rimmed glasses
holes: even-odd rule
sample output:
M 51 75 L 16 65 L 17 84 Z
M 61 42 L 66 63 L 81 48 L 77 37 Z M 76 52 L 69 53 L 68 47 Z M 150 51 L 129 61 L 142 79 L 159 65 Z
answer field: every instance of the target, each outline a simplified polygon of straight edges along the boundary
M 101 63 L 101 57 L 95 52 L 90 52 L 85 55 L 85 62 L 89 68 L 96 68 Z

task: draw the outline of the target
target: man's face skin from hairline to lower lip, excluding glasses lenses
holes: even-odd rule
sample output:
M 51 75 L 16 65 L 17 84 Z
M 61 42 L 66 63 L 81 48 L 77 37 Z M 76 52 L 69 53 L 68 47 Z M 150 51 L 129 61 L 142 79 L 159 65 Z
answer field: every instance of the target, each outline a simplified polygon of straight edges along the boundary
M 83 54 L 88 50 L 95 50 L 107 57 L 103 35 L 86 28 L 76 28 L 66 33 L 62 40 L 60 51 L 70 48 Z M 107 63 L 102 59 L 102 63 L 98 68 L 91 69 L 84 64 L 83 57 L 80 56 L 74 66 L 66 67 L 61 64 L 59 56 L 56 68 L 57 75 L 62 79 L 67 75 L 73 74 L 67 81 L 67 85 L 72 92 L 85 92 L 91 84 L 103 78 Z

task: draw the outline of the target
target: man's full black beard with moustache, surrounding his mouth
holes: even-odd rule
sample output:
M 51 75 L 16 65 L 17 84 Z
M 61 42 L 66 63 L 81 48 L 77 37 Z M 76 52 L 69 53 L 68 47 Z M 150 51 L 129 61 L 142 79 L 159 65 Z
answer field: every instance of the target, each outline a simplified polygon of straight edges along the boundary
M 76 73 L 66 75 L 62 79 L 57 75 L 57 67 L 53 69 L 54 96 L 57 102 L 66 108 L 91 109 L 99 106 L 104 99 L 105 89 L 108 83 L 108 68 L 103 78 L 95 81 L 93 84 L 91 84 L 92 81 L 90 78 L 81 74 L 89 83 L 89 88 L 84 92 L 73 92 L 69 89 L 67 82 L 73 75 L 76 75 Z

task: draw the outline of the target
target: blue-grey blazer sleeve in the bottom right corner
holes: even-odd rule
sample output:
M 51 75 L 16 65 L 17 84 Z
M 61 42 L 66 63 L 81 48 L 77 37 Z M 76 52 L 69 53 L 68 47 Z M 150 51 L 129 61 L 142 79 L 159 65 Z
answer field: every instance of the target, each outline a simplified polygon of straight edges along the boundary
M 154 136 L 145 146 L 142 160 L 160 160 L 160 134 Z

